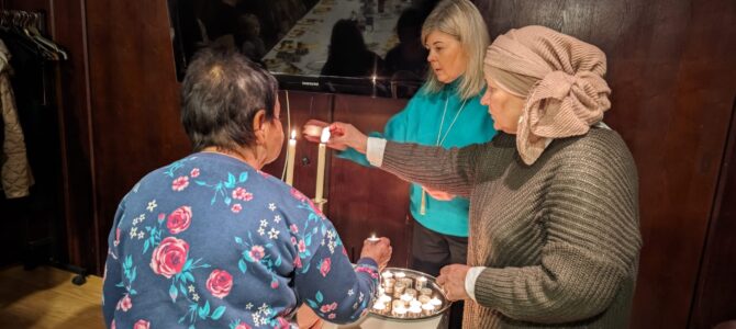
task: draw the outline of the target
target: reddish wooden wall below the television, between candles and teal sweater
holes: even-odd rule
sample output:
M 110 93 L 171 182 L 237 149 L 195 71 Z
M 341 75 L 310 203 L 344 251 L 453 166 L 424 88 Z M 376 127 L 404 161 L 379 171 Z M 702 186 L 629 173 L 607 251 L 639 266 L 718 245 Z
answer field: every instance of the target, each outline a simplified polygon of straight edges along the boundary
M 383 132 L 386 122 L 401 111 L 406 100 L 335 95 L 334 121 L 353 123 L 367 133 Z M 332 158 L 330 168 L 330 216 L 354 260 L 371 232 L 391 239 L 390 265 L 408 266 L 411 247 L 409 183 L 378 169 Z

